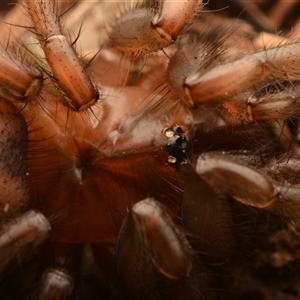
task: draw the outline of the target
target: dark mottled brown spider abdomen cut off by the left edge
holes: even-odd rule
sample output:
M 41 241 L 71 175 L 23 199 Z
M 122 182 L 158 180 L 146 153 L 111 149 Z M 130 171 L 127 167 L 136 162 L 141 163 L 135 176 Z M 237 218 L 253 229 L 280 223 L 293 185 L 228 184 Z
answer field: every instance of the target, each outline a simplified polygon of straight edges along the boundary
M 1 99 L 0 115 L 0 217 L 4 218 L 15 216 L 29 201 L 27 130 L 20 112 L 4 99 Z

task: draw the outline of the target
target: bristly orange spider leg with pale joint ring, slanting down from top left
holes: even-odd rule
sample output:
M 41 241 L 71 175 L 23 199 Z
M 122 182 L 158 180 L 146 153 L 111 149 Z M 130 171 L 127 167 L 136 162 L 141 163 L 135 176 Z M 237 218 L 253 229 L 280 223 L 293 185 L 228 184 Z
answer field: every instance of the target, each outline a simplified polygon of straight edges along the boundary
M 89 108 L 98 101 L 99 91 L 62 33 L 57 3 L 43 0 L 25 3 L 51 68 L 51 76 L 65 95 L 65 104 L 77 111 Z

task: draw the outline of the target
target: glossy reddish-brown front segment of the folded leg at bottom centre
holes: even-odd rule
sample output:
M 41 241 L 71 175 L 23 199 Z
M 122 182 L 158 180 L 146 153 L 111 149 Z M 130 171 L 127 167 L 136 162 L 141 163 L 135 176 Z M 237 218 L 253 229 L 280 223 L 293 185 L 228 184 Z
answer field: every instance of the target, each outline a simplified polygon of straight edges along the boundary
M 158 270 L 166 277 L 178 279 L 191 271 L 191 261 L 183 234 L 166 211 L 153 199 L 138 202 L 132 219 L 141 241 Z

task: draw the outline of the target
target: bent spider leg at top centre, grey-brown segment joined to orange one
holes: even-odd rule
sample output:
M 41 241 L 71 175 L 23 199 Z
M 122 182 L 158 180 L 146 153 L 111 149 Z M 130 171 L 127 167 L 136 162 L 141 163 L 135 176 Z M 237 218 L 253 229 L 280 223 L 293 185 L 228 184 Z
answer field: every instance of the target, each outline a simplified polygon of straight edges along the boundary
M 160 7 L 140 8 L 123 15 L 110 33 L 111 47 L 132 58 L 173 44 L 202 1 L 161 1 Z

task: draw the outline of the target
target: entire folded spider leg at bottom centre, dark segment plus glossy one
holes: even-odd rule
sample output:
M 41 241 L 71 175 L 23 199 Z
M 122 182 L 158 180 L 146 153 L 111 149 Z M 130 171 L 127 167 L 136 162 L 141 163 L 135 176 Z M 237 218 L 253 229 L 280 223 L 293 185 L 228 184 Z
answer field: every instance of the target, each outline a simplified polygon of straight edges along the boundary
M 135 296 L 155 291 L 167 278 L 184 278 L 192 268 L 183 234 L 151 198 L 135 204 L 125 218 L 116 258 L 121 280 Z

